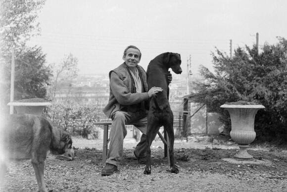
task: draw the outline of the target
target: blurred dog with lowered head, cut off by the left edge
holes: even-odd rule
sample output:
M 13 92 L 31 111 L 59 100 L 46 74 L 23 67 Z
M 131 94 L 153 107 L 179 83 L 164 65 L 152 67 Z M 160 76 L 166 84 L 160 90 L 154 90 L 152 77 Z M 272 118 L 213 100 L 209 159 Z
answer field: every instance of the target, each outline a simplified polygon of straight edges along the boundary
M 5 174 L 10 159 L 31 159 L 40 192 L 47 192 L 44 184 L 44 162 L 48 151 L 74 157 L 72 139 L 61 129 L 54 128 L 48 120 L 36 115 L 10 115 L 0 130 L 0 174 Z M 1 176 L 0 176 L 1 179 Z

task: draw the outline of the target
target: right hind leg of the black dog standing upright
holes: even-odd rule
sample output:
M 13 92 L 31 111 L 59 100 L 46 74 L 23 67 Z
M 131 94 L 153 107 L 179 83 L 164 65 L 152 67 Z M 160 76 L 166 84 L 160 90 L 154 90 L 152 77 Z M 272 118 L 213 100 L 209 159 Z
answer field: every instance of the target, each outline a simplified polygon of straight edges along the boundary
M 173 145 L 174 145 L 174 130 L 173 130 L 173 121 L 168 121 L 168 123 L 164 124 L 164 129 L 166 130 L 169 137 L 169 160 L 170 160 L 170 171 L 171 173 L 179 173 L 178 168 L 175 166 L 174 162 L 174 153 L 173 153 Z

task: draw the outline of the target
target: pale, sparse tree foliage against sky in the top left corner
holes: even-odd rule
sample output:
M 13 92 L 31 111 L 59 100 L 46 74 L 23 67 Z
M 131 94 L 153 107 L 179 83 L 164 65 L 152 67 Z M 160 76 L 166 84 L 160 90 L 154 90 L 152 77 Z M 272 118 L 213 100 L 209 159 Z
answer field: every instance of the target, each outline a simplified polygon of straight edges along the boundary
M 0 0 L 1 51 L 21 48 L 40 31 L 38 11 L 45 0 Z M 19 51 L 19 50 L 18 50 Z

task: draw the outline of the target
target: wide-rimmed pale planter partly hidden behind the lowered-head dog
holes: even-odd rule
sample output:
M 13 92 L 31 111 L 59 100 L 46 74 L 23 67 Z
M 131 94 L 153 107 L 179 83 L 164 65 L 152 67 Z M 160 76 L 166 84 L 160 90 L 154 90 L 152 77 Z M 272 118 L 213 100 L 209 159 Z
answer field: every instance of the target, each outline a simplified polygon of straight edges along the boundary
M 22 99 L 18 101 L 13 101 L 8 103 L 9 106 L 14 106 L 17 114 L 33 114 L 33 115 L 42 115 L 44 107 L 51 105 L 44 99 L 34 98 L 34 99 Z

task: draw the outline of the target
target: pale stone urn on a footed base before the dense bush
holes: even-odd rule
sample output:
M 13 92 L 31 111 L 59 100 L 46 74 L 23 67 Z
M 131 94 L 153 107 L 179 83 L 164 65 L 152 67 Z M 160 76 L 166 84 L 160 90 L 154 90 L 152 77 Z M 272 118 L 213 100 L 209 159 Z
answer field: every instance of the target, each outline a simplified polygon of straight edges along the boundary
M 239 152 L 235 155 L 239 159 L 251 159 L 247 148 L 254 141 L 256 132 L 254 131 L 254 119 L 259 109 L 264 109 L 263 105 L 247 101 L 226 103 L 221 108 L 225 108 L 231 118 L 231 138 L 238 143 Z

